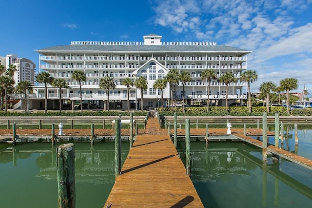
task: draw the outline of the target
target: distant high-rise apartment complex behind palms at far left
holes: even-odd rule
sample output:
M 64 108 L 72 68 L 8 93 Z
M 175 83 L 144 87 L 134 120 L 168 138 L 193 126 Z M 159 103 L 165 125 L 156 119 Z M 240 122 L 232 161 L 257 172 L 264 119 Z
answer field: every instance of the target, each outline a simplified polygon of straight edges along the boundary
M 15 86 L 21 81 L 28 81 L 35 85 L 35 70 L 36 64 L 29 59 L 17 58 L 15 54 L 8 54 L 6 57 L 0 57 L 0 64 L 4 65 L 6 69 L 11 64 L 15 65 L 17 71 L 14 73 Z

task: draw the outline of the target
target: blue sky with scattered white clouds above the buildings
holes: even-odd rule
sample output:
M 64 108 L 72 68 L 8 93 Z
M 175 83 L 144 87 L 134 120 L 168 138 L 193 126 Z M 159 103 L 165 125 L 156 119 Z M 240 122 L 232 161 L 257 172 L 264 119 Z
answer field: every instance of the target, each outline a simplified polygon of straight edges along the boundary
M 312 94 L 312 0 L 0 0 L 0 56 L 71 41 L 217 42 L 252 51 L 251 84 L 297 78 Z M 310 96 L 309 96 L 310 97 Z

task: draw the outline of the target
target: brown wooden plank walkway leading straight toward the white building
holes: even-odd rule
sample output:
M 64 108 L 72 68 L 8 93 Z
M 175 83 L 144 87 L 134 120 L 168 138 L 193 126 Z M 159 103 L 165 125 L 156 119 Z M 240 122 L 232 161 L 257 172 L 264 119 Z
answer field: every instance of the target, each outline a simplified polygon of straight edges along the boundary
M 157 119 L 149 119 L 104 208 L 204 207 L 170 136 L 159 130 Z

